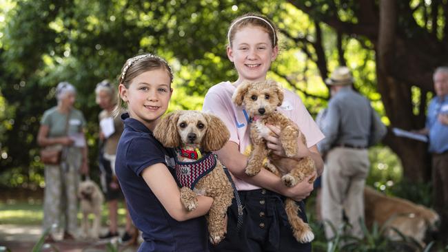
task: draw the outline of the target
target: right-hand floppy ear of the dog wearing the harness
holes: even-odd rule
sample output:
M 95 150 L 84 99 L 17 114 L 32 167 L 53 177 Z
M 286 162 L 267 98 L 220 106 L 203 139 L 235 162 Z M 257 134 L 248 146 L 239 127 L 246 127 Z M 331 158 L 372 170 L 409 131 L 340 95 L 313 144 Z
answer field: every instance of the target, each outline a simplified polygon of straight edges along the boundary
M 230 138 L 230 133 L 223 121 L 212 114 L 204 113 L 207 120 L 207 132 L 203 138 L 203 148 L 205 151 L 217 151 L 224 147 Z

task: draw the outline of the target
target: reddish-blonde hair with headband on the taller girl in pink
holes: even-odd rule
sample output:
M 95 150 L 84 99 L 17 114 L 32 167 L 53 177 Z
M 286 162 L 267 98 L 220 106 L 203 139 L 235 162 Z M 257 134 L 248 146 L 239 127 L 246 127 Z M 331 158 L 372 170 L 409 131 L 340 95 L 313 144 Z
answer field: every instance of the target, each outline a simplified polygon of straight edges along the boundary
M 236 32 L 245 28 L 246 26 L 256 26 L 262 28 L 268 35 L 272 43 L 272 48 L 278 45 L 278 36 L 276 32 L 276 27 L 272 21 L 261 14 L 247 13 L 243 16 L 237 17 L 232 21 L 227 32 L 227 40 L 229 41 L 229 46 L 232 47 L 232 41 L 235 38 Z

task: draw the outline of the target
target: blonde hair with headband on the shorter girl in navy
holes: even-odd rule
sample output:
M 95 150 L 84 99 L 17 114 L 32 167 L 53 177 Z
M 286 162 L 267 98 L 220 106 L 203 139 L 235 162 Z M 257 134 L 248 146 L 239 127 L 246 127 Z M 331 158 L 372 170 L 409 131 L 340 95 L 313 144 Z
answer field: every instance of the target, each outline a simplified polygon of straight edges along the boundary
M 161 57 L 154 54 L 141 54 L 128 59 L 121 68 L 121 74 L 119 76 L 118 83 L 119 85 L 123 84 L 126 89 L 128 89 L 130 83 L 132 83 L 132 80 L 134 80 L 136 76 L 139 76 L 144 72 L 159 69 L 166 70 L 167 74 L 170 76 L 171 87 L 173 74 L 170 65 L 168 65 L 165 59 L 162 59 Z M 125 103 L 123 103 L 123 100 L 121 100 L 120 94 L 118 94 L 117 97 L 118 103 L 116 104 L 114 112 L 112 113 L 114 116 L 118 116 L 127 108 L 125 106 Z

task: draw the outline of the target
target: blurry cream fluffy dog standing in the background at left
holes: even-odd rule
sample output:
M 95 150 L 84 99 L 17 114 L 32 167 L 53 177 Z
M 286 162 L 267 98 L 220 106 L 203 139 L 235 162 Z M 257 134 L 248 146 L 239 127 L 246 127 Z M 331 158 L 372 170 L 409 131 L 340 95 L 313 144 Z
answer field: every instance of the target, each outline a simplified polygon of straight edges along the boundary
M 99 238 L 101 228 L 101 209 L 103 207 L 104 196 L 98 185 L 92 180 L 85 180 L 79 183 L 78 197 L 81 200 L 81 212 L 83 219 L 81 220 L 82 238 Z M 94 219 L 92 228 L 90 228 L 88 216 L 93 213 Z

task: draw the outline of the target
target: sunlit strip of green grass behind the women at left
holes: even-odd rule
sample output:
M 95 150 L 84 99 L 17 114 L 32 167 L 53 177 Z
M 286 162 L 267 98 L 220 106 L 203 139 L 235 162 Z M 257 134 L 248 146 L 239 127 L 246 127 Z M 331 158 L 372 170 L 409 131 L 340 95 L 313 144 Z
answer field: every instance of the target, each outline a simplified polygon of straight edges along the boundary
M 119 202 L 119 225 L 125 224 L 125 213 L 123 202 Z M 82 213 L 78 213 L 81 220 Z M 90 216 L 90 218 L 93 218 Z M 0 201 L 0 224 L 42 224 L 43 206 L 41 200 L 7 200 Z M 108 224 L 108 205 L 103 204 L 101 222 L 105 226 Z

